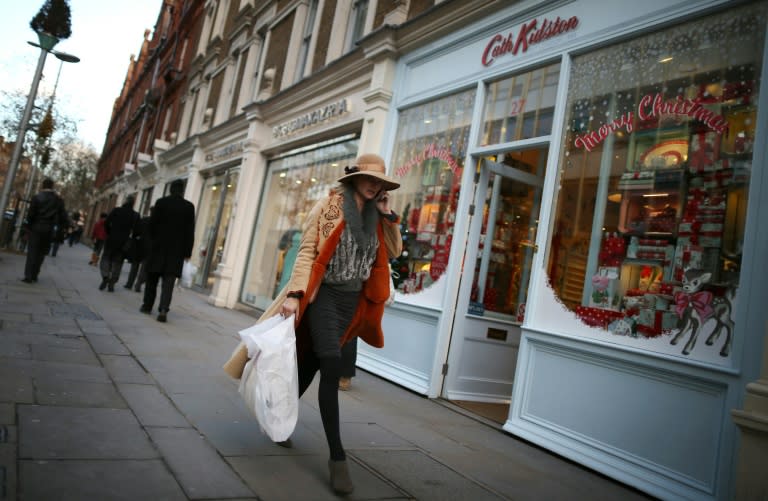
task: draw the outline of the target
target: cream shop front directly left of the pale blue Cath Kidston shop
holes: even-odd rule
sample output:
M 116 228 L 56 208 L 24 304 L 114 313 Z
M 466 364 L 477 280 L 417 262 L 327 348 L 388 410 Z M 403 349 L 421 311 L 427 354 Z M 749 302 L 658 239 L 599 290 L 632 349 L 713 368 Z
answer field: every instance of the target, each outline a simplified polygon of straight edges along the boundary
M 341 89 L 342 95 L 301 96 L 310 103 L 302 101 L 304 108 L 279 99 L 251 108 L 252 117 L 269 116 L 271 121 L 252 127 L 250 144 L 262 147 L 247 152 L 251 174 L 247 182 L 241 180 L 251 189 L 238 205 L 254 219 L 241 218 L 234 233 L 241 251 L 232 274 L 240 288 L 232 291 L 239 306 L 264 311 L 287 283 L 304 218 L 360 154 L 361 94 L 367 83 L 365 78 L 353 80 L 353 88 Z M 290 94 L 283 99 L 296 104 Z M 311 104 L 315 102 L 319 104 Z

